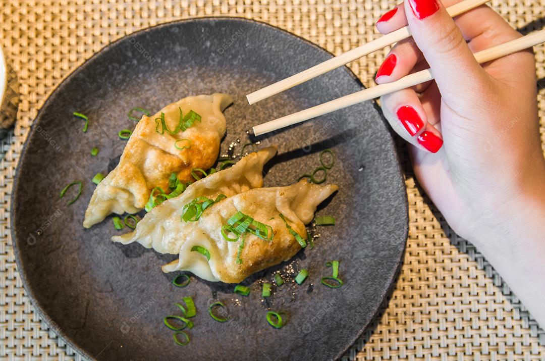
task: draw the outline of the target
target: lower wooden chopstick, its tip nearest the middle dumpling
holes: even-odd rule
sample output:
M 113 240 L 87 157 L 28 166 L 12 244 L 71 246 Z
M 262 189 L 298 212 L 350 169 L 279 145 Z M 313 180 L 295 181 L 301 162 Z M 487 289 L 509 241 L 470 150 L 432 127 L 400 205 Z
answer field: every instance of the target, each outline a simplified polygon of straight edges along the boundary
M 477 52 L 475 53 L 475 58 L 477 59 L 477 62 L 482 64 L 520 50 L 528 49 L 529 47 L 541 43 L 545 43 L 545 29 Z M 256 127 L 253 127 L 253 133 L 255 135 L 269 133 L 270 131 L 288 127 L 288 125 L 304 122 L 308 119 L 315 118 L 350 105 L 361 103 L 362 101 L 378 98 L 384 94 L 396 92 L 433 79 L 434 76 L 431 69 L 422 70 L 402 77 L 401 79 L 391 83 L 380 84 L 367 88 L 362 91 L 328 101 L 327 103 L 313 106 L 300 112 L 275 119 L 274 121 L 256 125 Z

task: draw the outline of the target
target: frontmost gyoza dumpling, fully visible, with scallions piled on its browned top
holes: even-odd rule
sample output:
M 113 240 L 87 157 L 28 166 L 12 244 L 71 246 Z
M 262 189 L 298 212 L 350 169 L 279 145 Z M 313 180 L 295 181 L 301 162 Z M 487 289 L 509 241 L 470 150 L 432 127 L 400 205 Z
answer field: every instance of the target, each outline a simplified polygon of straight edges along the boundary
M 195 222 L 178 220 L 168 225 L 161 236 L 179 247 L 180 257 L 162 269 L 164 272 L 189 270 L 208 281 L 236 283 L 252 273 L 287 261 L 301 249 L 290 229 L 306 240 L 305 224 L 314 217 L 318 204 L 337 189 L 336 185 L 322 186 L 301 180 L 290 186 L 251 189 L 227 197 L 205 209 Z M 236 242 L 228 242 L 222 235 L 222 227 L 237 212 L 270 226 L 272 239 L 245 232 Z M 226 235 L 235 238 L 228 231 Z M 195 250 L 195 246 L 207 250 L 210 259 Z

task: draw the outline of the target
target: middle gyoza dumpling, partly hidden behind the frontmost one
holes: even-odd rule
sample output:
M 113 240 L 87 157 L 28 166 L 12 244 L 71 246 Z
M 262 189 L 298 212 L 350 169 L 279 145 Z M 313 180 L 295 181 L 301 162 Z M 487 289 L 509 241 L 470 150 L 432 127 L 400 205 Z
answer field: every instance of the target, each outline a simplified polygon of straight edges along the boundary
M 138 242 L 160 253 L 178 254 L 183 239 L 171 230 L 178 229 L 185 204 L 197 197 L 227 197 L 263 186 L 263 165 L 276 154 L 276 147 L 250 153 L 237 164 L 192 183 L 178 197 L 170 198 L 148 212 L 134 232 L 112 237 L 113 242 Z

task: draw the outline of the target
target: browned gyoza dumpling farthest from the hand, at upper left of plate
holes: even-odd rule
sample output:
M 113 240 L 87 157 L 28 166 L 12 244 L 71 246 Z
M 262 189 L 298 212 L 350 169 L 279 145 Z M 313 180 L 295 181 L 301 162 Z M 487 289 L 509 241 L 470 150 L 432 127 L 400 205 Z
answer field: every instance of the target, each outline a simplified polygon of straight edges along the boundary
M 136 213 L 143 209 L 153 188 L 168 188 L 172 173 L 177 173 L 181 182 L 187 182 L 192 179 L 191 170 L 213 166 L 226 130 L 222 111 L 231 103 L 233 99 L 227 94 L 197 95 L 169 104 L 152 117 L 144 115 L 116 169 L 96 186 L 83 227 L 89 228 L 111 213 Z M 180 122 L 180 109 L 184 116 L 196 113 L 201 119 L 196 117 L 189 128 L 171 134 Z M 161 118 L 167 129 L 163 129 Z

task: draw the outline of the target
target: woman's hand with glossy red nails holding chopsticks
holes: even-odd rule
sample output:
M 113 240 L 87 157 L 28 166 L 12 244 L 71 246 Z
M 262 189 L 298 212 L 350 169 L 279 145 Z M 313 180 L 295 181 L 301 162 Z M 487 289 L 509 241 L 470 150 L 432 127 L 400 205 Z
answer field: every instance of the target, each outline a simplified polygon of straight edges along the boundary
M 407 23 L 413 39 L 393 47 L 376 81 L 428 67 L 435 81 L 385 95 L 384 115 L 411 144 L 415 175 L 453 230 L 475 243 L 545 326 L 545 160 L 534 56 L 475 61 L 473 52 L 520 37 L 487 6 L 452 20 L 435 0 L 407 0 L 377 28 L 388 33 Z

